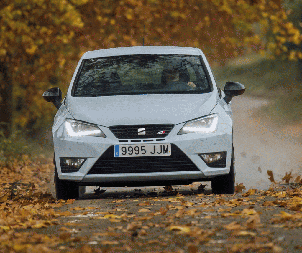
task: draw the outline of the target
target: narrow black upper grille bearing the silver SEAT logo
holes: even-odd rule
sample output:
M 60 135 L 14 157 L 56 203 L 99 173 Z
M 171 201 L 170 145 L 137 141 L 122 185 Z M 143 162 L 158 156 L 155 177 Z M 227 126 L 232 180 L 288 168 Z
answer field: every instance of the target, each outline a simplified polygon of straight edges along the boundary
M 145 138 L 164 138 L 166 137 L 174 125 L 126 125 L 111 126 L 109 129 L 118 139 L 145 139 Z M 139 129 L 141 129 L 139 131 Z M 160 133 L 163 132 L 164 133 Z M 145 134 L 138 134 L 139 132 Z

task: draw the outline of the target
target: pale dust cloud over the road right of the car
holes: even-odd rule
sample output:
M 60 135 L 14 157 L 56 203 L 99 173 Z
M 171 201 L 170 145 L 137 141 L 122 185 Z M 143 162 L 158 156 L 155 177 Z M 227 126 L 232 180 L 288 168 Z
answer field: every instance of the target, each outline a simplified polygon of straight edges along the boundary
M 232 99 L 236 183 L 247 190 L 268 188 L 267 170 L 272 170 L 276 182 L 285 172 L 292 172 L 294 178 L 302 173 L 302 144 L 257 115 L 268 103 L 246 96 Z

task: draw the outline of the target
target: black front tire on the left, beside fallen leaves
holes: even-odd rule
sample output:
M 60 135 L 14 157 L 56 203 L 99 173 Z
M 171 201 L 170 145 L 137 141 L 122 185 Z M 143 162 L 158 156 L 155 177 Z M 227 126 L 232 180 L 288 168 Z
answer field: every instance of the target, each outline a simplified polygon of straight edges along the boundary
M 54 171 L 54 183 L 57 199 L 67 200 L 79 198 L 79 185 L 76 182 L 59 179 L 56 165 Z

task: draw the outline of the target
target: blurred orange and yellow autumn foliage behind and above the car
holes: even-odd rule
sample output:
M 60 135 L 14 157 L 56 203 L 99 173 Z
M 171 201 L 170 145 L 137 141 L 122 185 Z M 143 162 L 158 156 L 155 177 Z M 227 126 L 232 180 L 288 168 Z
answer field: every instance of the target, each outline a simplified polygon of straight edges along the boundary
M 199 47 L 225 64 L 249 50 L 302 59 L 300 30 L 282 0 L 2 0 L 0 113 L 11 124 L 37 129 L 55 108 L 49 87 L 67 88 L 74 62 L 87 50 L 120 46 Z M 12 122 L 12 118 L 14 121 Z M 8 124 L 8 125 L 7 125 Z

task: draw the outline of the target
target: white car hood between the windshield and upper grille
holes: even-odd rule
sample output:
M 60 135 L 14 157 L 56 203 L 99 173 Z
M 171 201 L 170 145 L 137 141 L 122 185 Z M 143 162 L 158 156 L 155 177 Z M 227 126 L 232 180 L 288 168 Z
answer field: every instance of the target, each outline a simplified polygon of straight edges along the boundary
M 65 106 L 78 120 L 102 125 L 179 124 L 208 115 L 217 94 L 147 94 L 66 97 Z

